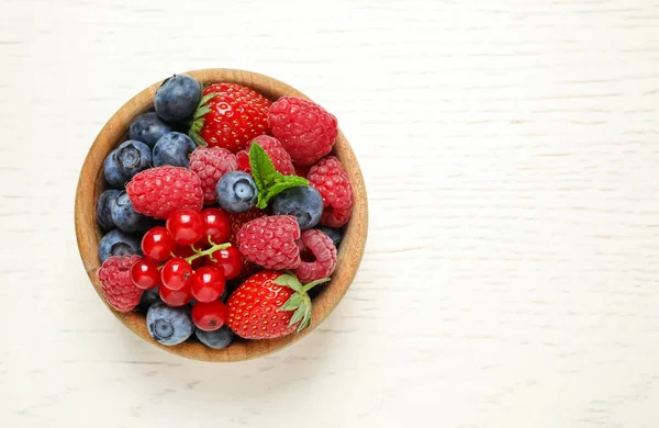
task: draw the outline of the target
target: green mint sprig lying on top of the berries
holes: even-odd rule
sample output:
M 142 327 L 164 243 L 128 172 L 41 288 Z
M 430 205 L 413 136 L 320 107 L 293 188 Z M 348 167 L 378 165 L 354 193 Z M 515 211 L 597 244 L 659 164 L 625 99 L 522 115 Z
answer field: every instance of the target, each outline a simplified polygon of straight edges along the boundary
M 270 199 L 287 189 L 309 185 L 309 181 L 305 178 L 283 176 L 278 172 L 266 150 L 257 143 L 253 143 L 249 148 L 249 165 L 252 167 L 254 182 L 258 189 L 257 209 L 265 209 L 268 206 L 268 201 L 270 201 Z

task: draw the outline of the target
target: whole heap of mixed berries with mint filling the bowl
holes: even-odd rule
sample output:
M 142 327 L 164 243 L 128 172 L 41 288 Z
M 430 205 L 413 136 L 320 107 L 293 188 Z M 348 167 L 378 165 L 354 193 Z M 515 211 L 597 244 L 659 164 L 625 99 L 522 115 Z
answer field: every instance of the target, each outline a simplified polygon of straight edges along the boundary
M 311 324 L 330 281 L 353 189 L 332 156 L 336 117 L 294 97 L 167 79 L 154 112 L 103 164 L 99 280 L 155 340 L 227 347 Z

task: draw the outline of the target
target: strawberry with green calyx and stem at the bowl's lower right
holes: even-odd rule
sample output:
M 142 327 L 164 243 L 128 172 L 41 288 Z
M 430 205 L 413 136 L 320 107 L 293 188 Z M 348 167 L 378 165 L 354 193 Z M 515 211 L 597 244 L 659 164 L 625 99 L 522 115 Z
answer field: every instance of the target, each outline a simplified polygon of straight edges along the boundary
M 311 297 L 306 292 L 326 281 L 330 279 L 302 285 L 289 273 L 255 273 L 228 297 L 226 324 L 244 339 L 275 339 L 300 333 L 311 325 Z

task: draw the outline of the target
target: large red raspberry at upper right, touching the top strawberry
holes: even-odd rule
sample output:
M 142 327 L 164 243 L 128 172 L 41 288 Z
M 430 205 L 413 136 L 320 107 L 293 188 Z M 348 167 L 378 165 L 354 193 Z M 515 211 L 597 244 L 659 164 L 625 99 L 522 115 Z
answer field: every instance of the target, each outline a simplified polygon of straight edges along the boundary
M 336 117 L 319 104 L 282 97 L 268 111 L 268 126 L 297 165 L 312 165 L 332 151 Z

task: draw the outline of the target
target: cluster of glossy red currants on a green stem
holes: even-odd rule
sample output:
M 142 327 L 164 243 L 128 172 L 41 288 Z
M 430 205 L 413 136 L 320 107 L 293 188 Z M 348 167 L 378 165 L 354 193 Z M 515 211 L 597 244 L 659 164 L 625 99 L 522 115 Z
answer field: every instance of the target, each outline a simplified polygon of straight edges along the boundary
M 226 306 L 221 296 L 226 281 L 241 274 L 243 256 L 226 243 L 231 221 L 220 209 L 180 210 L 142 238 L 144 258 L 131 268 L 133 283 L 143 290 L 158 286 L 169 306 L 197 303 L 192 322 L 205 331 L 222 327 Z

